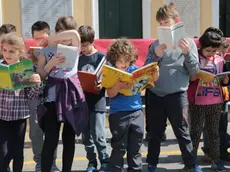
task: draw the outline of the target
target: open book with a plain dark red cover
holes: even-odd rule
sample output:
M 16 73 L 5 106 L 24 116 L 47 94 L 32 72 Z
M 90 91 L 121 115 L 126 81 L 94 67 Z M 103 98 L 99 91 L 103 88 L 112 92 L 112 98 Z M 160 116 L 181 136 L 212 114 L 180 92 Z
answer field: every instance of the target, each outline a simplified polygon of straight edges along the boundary
M 84 57 L 83 57 L 84 58 Z M 98 92 L 95 90 L 95 87 L 101 83 L 102 78 L 102 66 L 106 62 L 106 57 L 102 57 L 97 68 L 94 72 L 90 71 L 78 71 L 78 77 L 81 82 L 82 89 L 85 92 L 97 94 Z M 79 60 L 81 63 L 81 59 Z

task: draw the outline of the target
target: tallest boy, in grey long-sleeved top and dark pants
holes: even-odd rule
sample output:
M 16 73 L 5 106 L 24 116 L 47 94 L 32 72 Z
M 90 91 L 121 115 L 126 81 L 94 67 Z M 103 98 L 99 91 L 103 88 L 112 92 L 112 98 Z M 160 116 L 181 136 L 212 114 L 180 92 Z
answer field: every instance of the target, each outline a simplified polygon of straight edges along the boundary
M 180 21 L 174 3 L 163 5 L 156 14 L 161 26 L 172 26 Z M 189 77 L 199 71 L 196 44 L 190 38 L 179 41 L 180 49 L 167 50 L 165 44 L 154 41 L 145 64 L 159 61 L 160 77 L 149 92 L 149 127 L 147 163 L 149 171 L 155 172 L 159 161 L 161 137 L 169 119 L 178 140 L 185 171 L 202 171 L 195 162 L 189 135 L 187 89 Z

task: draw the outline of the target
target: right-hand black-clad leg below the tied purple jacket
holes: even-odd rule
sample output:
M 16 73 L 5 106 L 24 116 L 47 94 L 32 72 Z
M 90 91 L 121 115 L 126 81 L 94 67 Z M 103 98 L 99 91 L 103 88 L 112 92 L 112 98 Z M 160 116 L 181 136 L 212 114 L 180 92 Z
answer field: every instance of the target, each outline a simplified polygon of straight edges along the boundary
M 63 155 L 62 171 L 69 172 L 72 168 L 75 151 L 75 132 L 69 123 L 64 124 L 62 133 Z

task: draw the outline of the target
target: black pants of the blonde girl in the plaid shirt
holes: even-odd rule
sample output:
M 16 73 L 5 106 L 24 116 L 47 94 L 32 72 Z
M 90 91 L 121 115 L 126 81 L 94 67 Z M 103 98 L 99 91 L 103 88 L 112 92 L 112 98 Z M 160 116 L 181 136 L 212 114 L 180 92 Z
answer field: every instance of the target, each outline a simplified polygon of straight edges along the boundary
M 7 172 L 11 160 L 13 171 L 21 172 L 24 161 L 26 119 L 17 121 L 0 120 L 0 171 Z

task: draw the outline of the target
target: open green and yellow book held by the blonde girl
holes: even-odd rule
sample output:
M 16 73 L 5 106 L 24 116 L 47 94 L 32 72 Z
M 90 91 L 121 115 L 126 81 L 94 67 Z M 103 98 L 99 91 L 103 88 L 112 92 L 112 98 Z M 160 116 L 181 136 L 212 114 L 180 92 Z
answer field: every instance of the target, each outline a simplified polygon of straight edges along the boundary
M 33 74 L 32 60 L 11 65 L 0 64 L 0 89 L 18 90 L 34 86 L 35 83 L 29 81 Z

